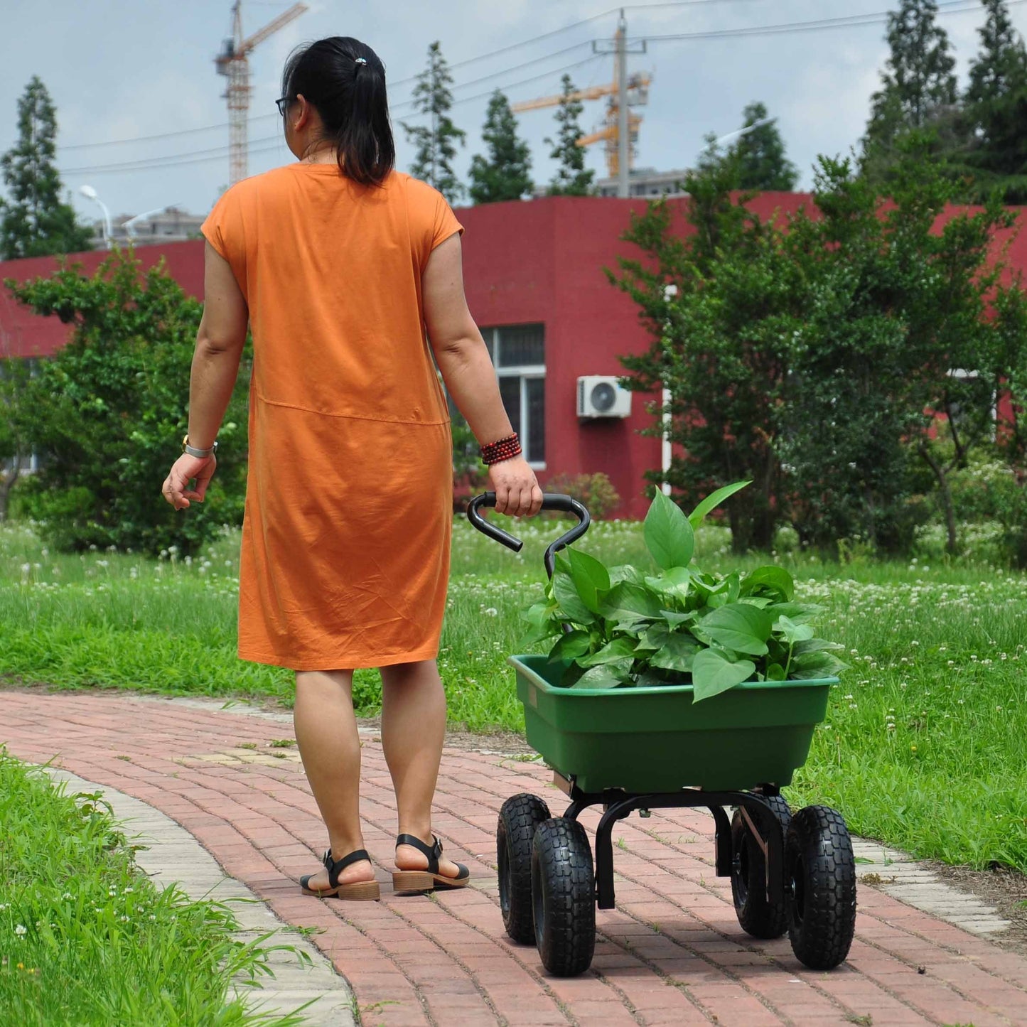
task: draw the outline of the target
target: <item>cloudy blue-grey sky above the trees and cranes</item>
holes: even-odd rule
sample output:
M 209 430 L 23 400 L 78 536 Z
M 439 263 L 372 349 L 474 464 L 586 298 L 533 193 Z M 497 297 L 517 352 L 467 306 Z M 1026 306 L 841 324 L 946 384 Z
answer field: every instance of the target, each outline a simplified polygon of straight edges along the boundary
M 413 148 L 402 121 L 419 123 L 410 104 L 413 77 L 440 40 L 453 68 L 452 117 L 467 132 L 458 169 L 483 152 L 481 127 L 489 93 L 511 102 L 559 92 L 564 71 L 575 85 L 612 79 L 609 48 L 617 8 L 611 0 L 307 0 L 309 9 L 251 56 L 249 174 L 295 158 L 281 140 L 275 113 L 281 68 L 292 49 L 322 36 L 355 36 L 385 63 L 397 144 L 407 169 Z M 741 111 L 762 101 L 778 118 L 789 157 L 812 183 L 819 154 L 847 154 L 866 126 L 870 98 L 887 58 L 883 18 L 824 31 L 774 31 L 694 38 L 794 23 L 883 14 L 898 0 L 686 0 L 625 3 L 627 33 L 646 52 L 633 53 L 630 72 L 652 75 L 636 166 L 691 166 L 708 132 L 741 125 Z M 942 0 L 941 18 L 958 60 L 961 81 L 978 49 L 984 16 L 979 0 Z M 246 35 L 291 6 L 243 0 Z M 1017 28 L 1027 34 L 1027 0 L 1012 0 Z M 584 23 L 584 24 L 581 24 Z M 228 183 L 226 79 L 214 58 L 231 28 L 227 0 L 0 0 L 0 151 L 15 138 L 16 102 L 38 75 L 58 111 L 58 166 L 71 201 L 92 221 L 98 207 L 79 192 L 92 186 L 114 215 L 175 204 L 205 214 Z M 659 36 L 693 34 L 690 39 Z M 538 38 L 543 37 L 543 38 Z M 495 52 L 502 50 L 502 52 Z M 581 124 L 598 127 L 602 101 L 585 105 Z M 520 115 L 531 146 L 533 175 L 554 170 L 546 136 L 554 109 Z M 142 139 L 142 137 L 159 137 Z M 124 142 L 128 141 L 128 142 Z M 587 165 L 605 177 L 599 146 Z M 0 188 L 2 193 L 2 188 Z

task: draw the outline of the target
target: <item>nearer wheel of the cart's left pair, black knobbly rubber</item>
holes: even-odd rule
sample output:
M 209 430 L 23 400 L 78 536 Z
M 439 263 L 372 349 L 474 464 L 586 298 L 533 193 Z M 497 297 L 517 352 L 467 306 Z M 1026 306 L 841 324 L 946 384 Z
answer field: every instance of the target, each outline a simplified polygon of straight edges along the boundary
M 596 877 L 592 848 L 577 821 L 554 816 L 535 830 L 531 849 L 535 944 L 556 977 L 575 977 L 596 951 Z

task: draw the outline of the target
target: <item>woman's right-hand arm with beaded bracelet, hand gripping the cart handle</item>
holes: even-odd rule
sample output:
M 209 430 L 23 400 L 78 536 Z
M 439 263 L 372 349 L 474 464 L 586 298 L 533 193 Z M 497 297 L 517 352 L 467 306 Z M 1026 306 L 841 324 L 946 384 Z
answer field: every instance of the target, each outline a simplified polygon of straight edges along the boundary
M 460 236 L 451 235 L 431 252 L 421 277 L 424 319 L 439 370 L 457 409 L 480 445 L 514 431 L 489 358 L 463 293 Z M 542 490 L 523 457 L 489 467 L 500 514 L 533 517 L 542 506 Z

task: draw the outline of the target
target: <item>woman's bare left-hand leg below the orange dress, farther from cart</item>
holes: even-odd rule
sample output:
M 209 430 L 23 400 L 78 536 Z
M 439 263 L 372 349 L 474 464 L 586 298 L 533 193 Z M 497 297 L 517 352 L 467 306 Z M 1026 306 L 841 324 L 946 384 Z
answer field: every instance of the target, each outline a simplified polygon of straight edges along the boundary
M 297 671 L 293 723 L 307 781 L 328 828 L 332 858 L 364 848 L 360 832 L 360 738 L 353 716 L 352 671 Z M 339 875 L 344 884 L 370 881 L 374 867 L 351 864 Z M 329 886 L 324 868 L 310 887 Z

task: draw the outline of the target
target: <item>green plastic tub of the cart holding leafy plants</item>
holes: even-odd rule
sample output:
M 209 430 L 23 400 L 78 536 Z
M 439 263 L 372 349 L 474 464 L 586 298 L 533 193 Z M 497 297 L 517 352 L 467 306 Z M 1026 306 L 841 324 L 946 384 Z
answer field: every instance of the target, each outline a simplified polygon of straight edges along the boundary
M 837 678 L 752 682 L 692 703 L 692 686 L 560 688 L 566 663 L 509 656 L 528 744 L 583 792 L 746 791 L 791 784 Z

